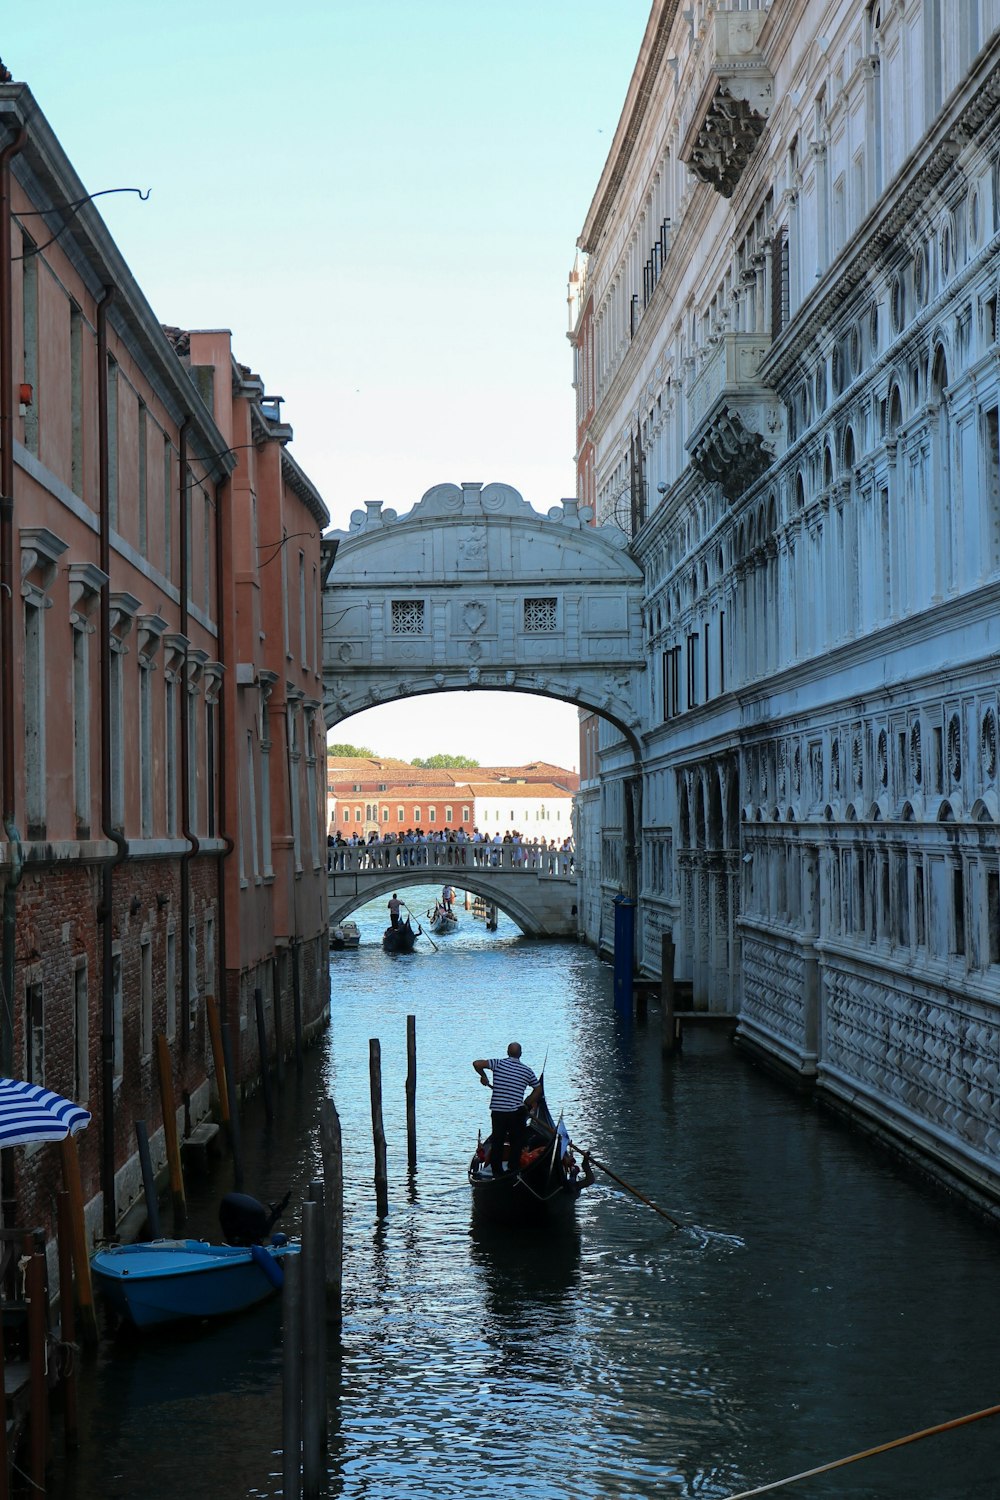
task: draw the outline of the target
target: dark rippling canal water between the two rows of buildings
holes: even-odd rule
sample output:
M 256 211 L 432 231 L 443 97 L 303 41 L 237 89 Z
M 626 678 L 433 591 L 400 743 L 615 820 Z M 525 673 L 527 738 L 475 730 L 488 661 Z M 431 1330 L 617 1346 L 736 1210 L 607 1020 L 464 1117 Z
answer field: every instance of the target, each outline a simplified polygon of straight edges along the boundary
M 433 891 L 408 891 L 423 916 Z M 1000 1401 L 1000 1239 L 837 1119 L 658 1012 L 616 1022 L 612 974 L 570 944 L 459 933 L 331 954 L 328 1036 L 244 1114 L 246 1191 L 294 1203 L 345 1143 L 345 1322 L 330 1360 L 328 1494 L 364 1500 L 723 1497 Z M 418 1167 L 406 1170 L 406 1017 Z M 382 1054 L 390 1215 L 378 1222 L 369 1040 Z M 472 1221 L 465 1167 L 489 1094 L 472 1058 L 517 1040 L 553 1113 L 685 1226 L 598 1172 L 574 1232 Z M 222 1166 L 190 1196 L 216 1236 Z M 286 1227 L 295 1227 L 289 1209 Z M 280 1305 L 222 1328 L 105 1341 L 61 1500 L 277 1497 Z M 1000 1419 L 793 1485 L 852 1500 L 997 1500 Z

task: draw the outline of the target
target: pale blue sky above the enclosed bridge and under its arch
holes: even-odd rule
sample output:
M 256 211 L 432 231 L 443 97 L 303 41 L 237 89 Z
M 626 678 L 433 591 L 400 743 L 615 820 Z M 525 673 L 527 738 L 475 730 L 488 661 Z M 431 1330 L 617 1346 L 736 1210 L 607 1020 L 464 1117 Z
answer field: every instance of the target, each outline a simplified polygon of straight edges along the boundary
M 87 190 L 150 192 L 99 207 L 153 310 L 232 330 L 346 528 L 442 482 L 499 480 L 543 514 L 574 494 L 567 278 L 648 14 L 45 0 L 6 8 L 0 56 Z M 577 765 L 574 708 L 495 696 L 387 705 L 334 738 Z M 523 734 L 502 760 L 501 718 Z

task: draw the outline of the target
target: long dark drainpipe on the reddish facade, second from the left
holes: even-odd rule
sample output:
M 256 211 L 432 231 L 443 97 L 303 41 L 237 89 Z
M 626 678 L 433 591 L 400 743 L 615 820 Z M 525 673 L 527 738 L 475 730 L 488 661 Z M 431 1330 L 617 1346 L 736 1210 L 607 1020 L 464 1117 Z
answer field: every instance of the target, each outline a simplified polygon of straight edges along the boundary
M 112 822 L 111 808 L 111 496 L 108 489 L 108 308 L 114 286 L 97 303 L 97 501 L 100 522 L 100 831 L 114 854 L 100 868 L 100 1192 L 103 1233 L 115 1230 L 114 1196 L 114 872 L 129 846 Z

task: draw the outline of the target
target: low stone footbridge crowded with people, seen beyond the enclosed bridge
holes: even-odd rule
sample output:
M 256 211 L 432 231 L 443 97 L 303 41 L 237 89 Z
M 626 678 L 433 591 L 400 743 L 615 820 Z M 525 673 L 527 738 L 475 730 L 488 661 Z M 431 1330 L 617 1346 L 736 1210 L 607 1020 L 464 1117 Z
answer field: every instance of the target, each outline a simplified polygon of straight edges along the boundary
M 372 849 L 334 844 L 328 866 L 331 927 L 379 896 L 402 894 L 412 885 L 447 884 L 493 902 L 529 938 L 577 936 L 576 874 L 571 860 L 556 850 L 423 840 Z M 414 912 L 415 918 L 421 915 Z

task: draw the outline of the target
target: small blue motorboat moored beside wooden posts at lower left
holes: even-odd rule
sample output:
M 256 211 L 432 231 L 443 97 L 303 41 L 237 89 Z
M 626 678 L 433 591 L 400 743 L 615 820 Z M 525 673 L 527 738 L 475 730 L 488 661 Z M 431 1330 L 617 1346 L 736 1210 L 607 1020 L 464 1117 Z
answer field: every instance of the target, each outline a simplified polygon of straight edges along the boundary
M 276 1234 L 267 1245 L 153 1239 L 108 1245 L 90 1262 L 94 1282 L 136 1328 L 241 1312 L 280 1290 L 282 1260 L 300 1246 Z

